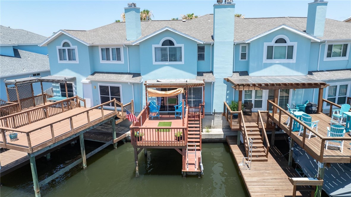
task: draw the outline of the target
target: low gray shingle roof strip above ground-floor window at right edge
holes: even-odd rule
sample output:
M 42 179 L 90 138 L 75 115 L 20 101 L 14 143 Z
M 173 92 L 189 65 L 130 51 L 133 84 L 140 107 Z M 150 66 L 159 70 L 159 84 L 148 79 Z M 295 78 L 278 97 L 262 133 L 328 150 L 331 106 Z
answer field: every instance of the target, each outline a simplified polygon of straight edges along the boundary
M 320 81 L 351 79 L 351 69 L 309 71 L 307 77 Z

